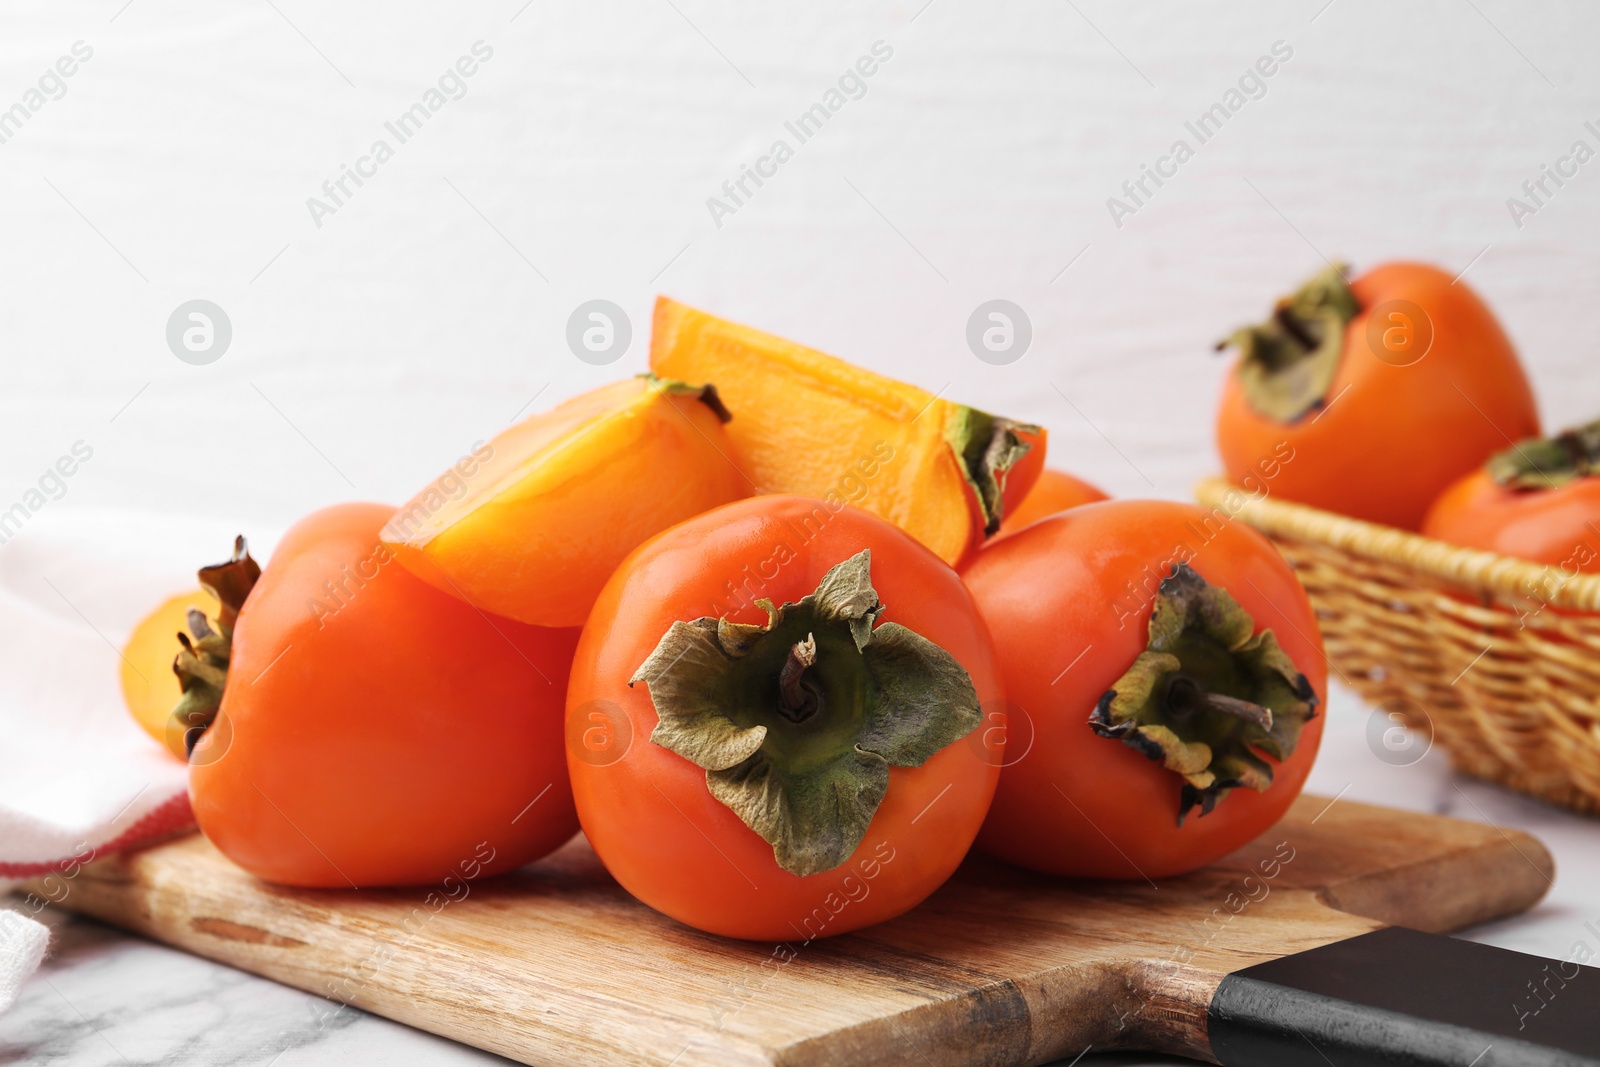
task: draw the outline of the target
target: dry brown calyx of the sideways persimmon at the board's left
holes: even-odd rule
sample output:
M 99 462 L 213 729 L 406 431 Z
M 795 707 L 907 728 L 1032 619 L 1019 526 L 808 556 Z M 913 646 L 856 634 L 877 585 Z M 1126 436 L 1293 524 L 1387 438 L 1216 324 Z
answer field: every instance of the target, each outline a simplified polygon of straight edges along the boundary
M 234 625 L 238 609 L 256 587 L 261 565 L 250 557 L 245 537 L 234 537 L 234 555 L 222 563 L 200 568 L 200 585 L 216 597 L 221 608 L 216 625 L 198 608 L 189 609 L 189 633 L 178 632 L 178 656 L 173 673 L 182 696 L 173 707 L 173 720 L 184 731 L 184 752 L 194 753 L 202 734 L 216 721 L 227 686 L 227 662 L 234 651 Z

